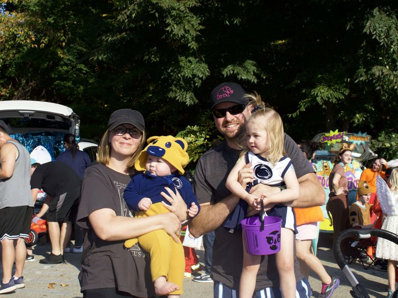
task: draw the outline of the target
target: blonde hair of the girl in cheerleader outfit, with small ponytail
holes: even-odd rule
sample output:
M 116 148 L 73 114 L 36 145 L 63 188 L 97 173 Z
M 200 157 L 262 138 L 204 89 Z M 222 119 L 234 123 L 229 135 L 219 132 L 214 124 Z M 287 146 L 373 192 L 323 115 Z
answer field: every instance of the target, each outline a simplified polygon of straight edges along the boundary
M 256 121 L 256 125 L 267 132 L 268 149 L 265 155 L 267 160 L 275 165 L 281 159 L 281 155 L 286 154 L 282 118 L 277 111 L 266 107 L 265 103 L 261 100 L 261 96 L 256 92 L 248 94 L 247 98 L 250 100 L 248 105 L 253 108 L 252 115 L 247 119 L 247 124 Z M 246 142 L 245 147 L 244 153 L 248 151 Z

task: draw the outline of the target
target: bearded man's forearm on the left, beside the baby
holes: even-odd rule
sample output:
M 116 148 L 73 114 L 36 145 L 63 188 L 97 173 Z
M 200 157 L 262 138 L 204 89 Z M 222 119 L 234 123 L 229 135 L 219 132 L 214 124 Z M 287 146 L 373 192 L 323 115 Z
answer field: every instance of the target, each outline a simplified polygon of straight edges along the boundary
M 197 238 L 210 231 L 214 231 L 234 211 L 238 201 L 238 197 L 231 195 L 215 204 L 201 204 L 201 212 L 189 223 L 189 232 Z

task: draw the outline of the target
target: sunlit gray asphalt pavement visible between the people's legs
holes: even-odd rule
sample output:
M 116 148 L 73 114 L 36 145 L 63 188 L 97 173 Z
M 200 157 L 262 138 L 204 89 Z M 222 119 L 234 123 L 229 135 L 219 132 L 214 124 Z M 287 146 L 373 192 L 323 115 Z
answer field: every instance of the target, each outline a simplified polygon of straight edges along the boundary
M 334 261 L 331 251 L 331 234 L 321 234 L 318 242 L 317 256 L 324 264 L 327 272 L 332 276 L 340 278 L 340 286 L 337 288 L 333 297 L 351 297 L 351 285 L 344 276 L 342 270 Z M 40 243 L 34 247 L 35 261 L 26 262 L 23 276 L 26 285 L 23 289 L 15 292 L 3 294 L 7 298 L 77 298 L 83 297 L 80 293 L 78 281 L 79 264 L 81 254 L 65 254 L 66 262 L 56 265 L 43 265 L 39 260 L 49 254 L 49 243 Z M 0 250 L 1 253 L 1 250 Z M 200 260 L 203 260 L 203 251 L 197 251 Z M 370 297 L 382 298 L 387 295 L 387 273 L 376 269 L 364 269 L 360 263 L 350 265 L 354 276 L 359 283 L 365 287 Z M 200 275 L 202 272 L 195 273 Z M 190 279 L 184 280 L 184 298 L 200 298 L 213 296 L 213 283 L 197 283 Z M 309 278 L 313 297 L 317 297 L 320 292 L 320 281 L 311 273 Z

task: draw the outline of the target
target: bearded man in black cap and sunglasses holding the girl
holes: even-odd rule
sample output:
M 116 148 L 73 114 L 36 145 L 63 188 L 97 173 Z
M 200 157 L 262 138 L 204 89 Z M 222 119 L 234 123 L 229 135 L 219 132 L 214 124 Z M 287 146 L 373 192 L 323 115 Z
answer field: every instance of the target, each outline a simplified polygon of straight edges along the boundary
M 213 245 L 212 276 L 214 297 L 238 297 L 240 273 L 243 263 L 241 230 L 223 227 L 223 222 L 234 212 L 239 198 L 231 195 L 225 186 L 229 172 L 239 156 L 238 134 L 250 116 L 252 107 L 246 106 L 246 92 L 236 83 L 223 83 L 211 92 L 211 111 L 217 130 L 225 137 L 218 147 L 206 152 L 195 169 L 194 192 L 202 211 L 189 225 L 190 232 L 199 236 L 215 230 Z M 308 161 L 295 142 L 285 134 L 285 151 L 293 160 L 300 182 L 300 199 L 291 207 L 309 207 L 325 202 L 325 193 Z M 241 182 L 253 182 L 253 171 L 246 165 L 240 173 Z M 279 192 L 277 187 L 260 185 L 255 194 Z M 211 219 L 211 221 L 209 221 Z M 273 268 L 273 270 L 267 270 Z M 310 296 L 310 286 L 300 273 L 298 262 L 294 263 L 296 289 L 300 297 Z M 264 256 L 256 281 L 256 297 L 281 296 L 275 255 Z

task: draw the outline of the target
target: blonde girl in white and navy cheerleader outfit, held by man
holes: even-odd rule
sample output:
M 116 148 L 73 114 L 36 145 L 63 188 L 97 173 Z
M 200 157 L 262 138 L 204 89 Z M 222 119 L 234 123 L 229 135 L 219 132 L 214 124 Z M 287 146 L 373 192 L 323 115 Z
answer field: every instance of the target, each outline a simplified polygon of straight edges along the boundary
M 281 250 L 276 254 L 276 263 L 280 278 L 280 287 L 284 298 L 294 298 L 296 295 L 296 280 L 294 276 L 294 235 L 296 232 L 294 211 L 282 203 L 296 200 L 300 197 L 300 186 L 289 157 L 284 156 L 284 130 L 279 114 L 265 107 L 257 94 L 249 95 L 253 106 L 252 115 L 247 119 L 246 144 L 236 165 L 230 172 L 226 186 L 237 197 L 247 202 L 252 209 L 260 210 L 260 200 L 264 206 L 272 204 L 266 211 L 267 215 L 282 219 Z M 245 164 L 252 164 L 254 170 L 253 185 L 264 183 L 279 186 L 278 194 L 263 195 L 260 198 L 250 194 L 238 182 L 238 172 Z M 250 185 L 248 185 L 250 188 Z M 239 297 L 251 298 L 255 290 L 256 275 L 260 267 L 261 256 L 247 254 L 244 251 L 243 269 L 239 285 Z

